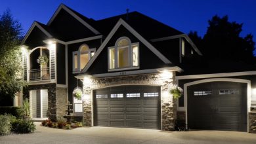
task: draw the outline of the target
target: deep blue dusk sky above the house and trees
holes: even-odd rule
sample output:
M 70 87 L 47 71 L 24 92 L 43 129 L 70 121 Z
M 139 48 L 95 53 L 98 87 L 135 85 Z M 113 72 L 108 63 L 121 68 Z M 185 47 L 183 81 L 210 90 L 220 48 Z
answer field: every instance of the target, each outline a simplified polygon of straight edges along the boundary
M 47 24 L 60 3 L 95 20 L 123 14 L 128 8 L 130 12 L 139 11 L 184 33 L 198 31 L 201 36 L 212 16 L 227 14 L 230 21 L 244 24 L 242 37 L 247 33 L 256 37 L 255 0 L 1 0 L 0 14 L 11 9 L 12 15 L 20 21 L 26 33 L 34 20 Z

